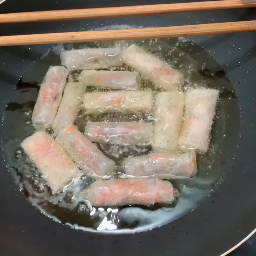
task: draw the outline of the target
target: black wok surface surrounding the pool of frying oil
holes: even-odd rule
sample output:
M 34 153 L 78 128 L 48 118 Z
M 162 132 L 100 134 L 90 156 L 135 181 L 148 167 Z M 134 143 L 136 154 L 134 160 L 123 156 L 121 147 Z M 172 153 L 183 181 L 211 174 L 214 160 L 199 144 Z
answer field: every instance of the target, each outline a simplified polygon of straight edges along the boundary
M 157 1 L 158 4 L 171 2 L 173 1 Z M 142 0 L 129 2 L 116 0 L 6 0 L 0 4 L 0 12 L 154 3 L 155 1 Z M 173 26 L 255 19 L 255 9 L 221 10 L 114 20 L 2 25 L 0 26 L 0 35 L 79 31 L 113 24 Z M 225 128 L 227 136 L 222 143 L 221 156 L 216 160 L 216 168 L 223 170 L 225 175 L 211 196 L 192 212 L 150 231 L 134 234 L 82 232 L 53 221 L 32 206 L 19 191 L 11 173 L 7 171 L 1 153 L 1 254 L 220 255 L 234 248 L 250 233 L 255 232 L 256 33 L 202 36 L 192 39 L 206 49 L 225 70 L 236 90 L 240 108 L 240 124 L 236 127 L 229 122 Z M 4 112 L 8 98 L 20 76 L 34 61 L 46 53 L 49 47 L 52 45 L 0 48 L 1 113 Z M 238 48 L 241 49 L 238 50 Z M 18 125 L 15 120 L 13 120 L 13 125 Z M 3 127 L 1 127 L 1 131 L 2 129 Z M 3 141 L 3 134 L 0 136 Z

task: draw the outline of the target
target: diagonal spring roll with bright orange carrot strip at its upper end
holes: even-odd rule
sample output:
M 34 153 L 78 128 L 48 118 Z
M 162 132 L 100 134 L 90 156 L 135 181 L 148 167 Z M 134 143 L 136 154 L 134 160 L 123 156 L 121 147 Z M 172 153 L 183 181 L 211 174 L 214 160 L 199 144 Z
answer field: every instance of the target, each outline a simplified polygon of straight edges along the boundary
M 115 162 L 105 156 L 76 126 L 61 130 L 55 140 L 85 173 L 101 178 L 113 174 Z

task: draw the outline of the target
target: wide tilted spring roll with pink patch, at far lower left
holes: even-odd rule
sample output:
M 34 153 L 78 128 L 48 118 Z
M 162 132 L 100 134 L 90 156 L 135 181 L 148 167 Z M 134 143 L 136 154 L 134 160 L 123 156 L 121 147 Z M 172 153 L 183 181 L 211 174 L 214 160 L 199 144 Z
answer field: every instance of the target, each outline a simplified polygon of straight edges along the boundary
M 65 150 L 46 132 L 36 132 L 21 143 L 52 193 L 60 192 L 80 172 Z

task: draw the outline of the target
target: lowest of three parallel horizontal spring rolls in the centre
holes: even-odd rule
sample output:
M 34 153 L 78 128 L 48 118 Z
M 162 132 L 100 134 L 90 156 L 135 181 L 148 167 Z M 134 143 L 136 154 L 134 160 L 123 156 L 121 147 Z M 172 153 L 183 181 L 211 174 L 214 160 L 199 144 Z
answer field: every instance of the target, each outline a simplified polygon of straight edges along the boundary
M 152 123 L 88 122 L 85 135 L 92 142 L 117 145 L 148 145 L 153 137 Z

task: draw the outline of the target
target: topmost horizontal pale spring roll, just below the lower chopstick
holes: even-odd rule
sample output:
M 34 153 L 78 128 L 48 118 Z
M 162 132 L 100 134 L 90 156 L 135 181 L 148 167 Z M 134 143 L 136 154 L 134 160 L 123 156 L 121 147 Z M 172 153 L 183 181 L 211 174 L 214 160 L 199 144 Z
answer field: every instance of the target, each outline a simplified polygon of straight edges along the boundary
M 60 60 L 68 69 L 102 69 L 123 64 L 120 47 L 63 51 Z

